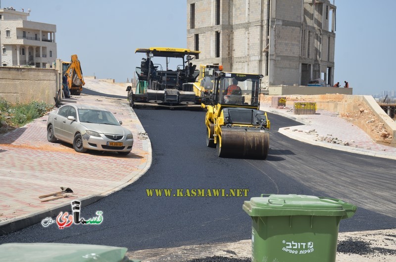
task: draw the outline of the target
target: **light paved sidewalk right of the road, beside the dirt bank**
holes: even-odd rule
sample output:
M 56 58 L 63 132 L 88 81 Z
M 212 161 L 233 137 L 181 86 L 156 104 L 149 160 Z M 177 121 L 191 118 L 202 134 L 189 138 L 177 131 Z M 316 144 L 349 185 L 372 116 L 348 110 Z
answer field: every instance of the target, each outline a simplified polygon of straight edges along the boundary
M 279 129 L 280 133 L 290 138 L 336 150 L 396 159 L 396 147 L 376 143 L 366 132 L 335 112 L 317 110 L 315 115 L 294 115 L 292 109 L 274 108 L 270 103 L 262 103 L 260 109 L 304 124 Z M 328 140 L 340 141 L 340 144 Z

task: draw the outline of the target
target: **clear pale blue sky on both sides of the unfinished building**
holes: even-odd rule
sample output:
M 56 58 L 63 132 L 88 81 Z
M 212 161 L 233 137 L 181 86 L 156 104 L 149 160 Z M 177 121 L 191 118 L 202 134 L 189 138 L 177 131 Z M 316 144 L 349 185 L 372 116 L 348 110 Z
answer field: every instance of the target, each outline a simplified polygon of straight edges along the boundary
M 331 0 L 333 2 L 333 0 Z M 57 56 L 77 54 L 84 76 L 126 82 L 140 65 L 136 48 L 187 47 L 186 0 L 0 0 L 31 9 L 28 20 L 56 25 Z M 335 82 L 353 94 L 396 90 L 396 1 L 335 0 Z

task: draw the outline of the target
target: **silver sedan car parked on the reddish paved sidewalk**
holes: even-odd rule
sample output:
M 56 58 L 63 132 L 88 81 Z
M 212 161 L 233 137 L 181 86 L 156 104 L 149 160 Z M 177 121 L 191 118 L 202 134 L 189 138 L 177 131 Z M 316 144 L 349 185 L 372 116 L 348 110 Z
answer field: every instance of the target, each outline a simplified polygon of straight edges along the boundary
M 73 144 L 77 152 L 87 149 L 116 151 L 127 155 L 132 150 L 133 135 L 121 126 L 114 115 L 104 108 L 68 104 L 49 113 L 47 139 Z

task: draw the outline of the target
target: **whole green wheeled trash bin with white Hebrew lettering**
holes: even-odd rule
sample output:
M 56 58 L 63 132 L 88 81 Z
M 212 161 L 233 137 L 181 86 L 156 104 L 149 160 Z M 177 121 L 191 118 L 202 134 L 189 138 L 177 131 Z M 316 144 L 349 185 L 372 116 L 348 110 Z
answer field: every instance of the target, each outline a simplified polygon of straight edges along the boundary
M 245 201 L 252 262 L 335 262 L 340 220 L 356 206 L 339 199 L 262 194 Z

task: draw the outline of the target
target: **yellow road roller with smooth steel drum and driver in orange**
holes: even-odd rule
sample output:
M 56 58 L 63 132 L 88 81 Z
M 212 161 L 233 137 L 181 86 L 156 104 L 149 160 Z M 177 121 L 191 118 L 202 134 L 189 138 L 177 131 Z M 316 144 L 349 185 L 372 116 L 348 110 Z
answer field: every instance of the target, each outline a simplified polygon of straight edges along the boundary
M 214 87 L 206 103 L 206 145 L 219 157 L 266 159 L 270 121 L 259 110 L 262 75 L 214 73 Z

